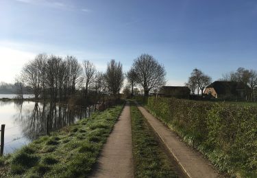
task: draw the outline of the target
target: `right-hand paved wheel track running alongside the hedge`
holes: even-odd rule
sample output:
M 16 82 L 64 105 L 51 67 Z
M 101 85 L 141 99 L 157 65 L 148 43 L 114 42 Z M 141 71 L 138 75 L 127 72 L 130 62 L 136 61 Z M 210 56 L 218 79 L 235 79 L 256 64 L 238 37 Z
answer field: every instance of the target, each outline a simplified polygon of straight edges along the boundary
M 188 177 L 221 177 L 206 158 L 190 149 L 184 142 L 180 141 L 178 136 L 164 126 L 160 120 L 149 114 L 144 107 L 138 105 L 138 109 L 142 112 L 143 116 L 147 118 L 151 127 L 156 131 Z

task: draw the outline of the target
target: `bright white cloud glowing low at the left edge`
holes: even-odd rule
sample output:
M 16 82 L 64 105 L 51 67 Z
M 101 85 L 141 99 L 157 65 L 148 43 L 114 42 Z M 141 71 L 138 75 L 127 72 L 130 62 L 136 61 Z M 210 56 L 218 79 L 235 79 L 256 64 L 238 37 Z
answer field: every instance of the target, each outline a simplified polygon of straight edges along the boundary
M 0 81 L 13 83 L 16 75 L 26 62 L 35 57 L 35 53 L 0 47 Z

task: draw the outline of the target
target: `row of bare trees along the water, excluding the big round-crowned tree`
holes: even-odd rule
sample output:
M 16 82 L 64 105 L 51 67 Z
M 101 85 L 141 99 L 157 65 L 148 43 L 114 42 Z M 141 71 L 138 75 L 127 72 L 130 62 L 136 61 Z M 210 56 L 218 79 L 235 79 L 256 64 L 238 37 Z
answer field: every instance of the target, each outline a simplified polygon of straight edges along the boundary
M 124 80 L 122 70 L 121 63 L 115 60 L 108 63 L 106 73 L 101 73 L 88 60 L 80 64 L 74 56 L 62 58 L 42 53 L 25 64 L 16 84 L 20 92 L 24 86 L 31 87 L 36 101 L 65 101 L 79 95 L 79 99 L 88 102 L 90 92 L 99 101 L 108 93 L 118 97 Z

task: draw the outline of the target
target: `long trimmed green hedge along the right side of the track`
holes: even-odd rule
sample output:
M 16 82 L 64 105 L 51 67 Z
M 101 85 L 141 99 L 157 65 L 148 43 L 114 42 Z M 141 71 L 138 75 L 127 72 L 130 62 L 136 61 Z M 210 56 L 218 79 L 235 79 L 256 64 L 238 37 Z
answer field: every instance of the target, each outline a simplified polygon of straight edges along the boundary
M 223 173 L 257 177 L 257 105 L 137 98 Z

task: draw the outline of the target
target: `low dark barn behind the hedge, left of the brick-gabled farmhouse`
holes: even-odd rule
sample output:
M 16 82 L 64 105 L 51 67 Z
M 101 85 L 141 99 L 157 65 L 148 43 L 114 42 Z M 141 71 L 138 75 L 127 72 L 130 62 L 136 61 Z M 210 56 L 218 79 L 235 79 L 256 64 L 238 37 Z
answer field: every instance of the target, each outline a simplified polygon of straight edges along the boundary
M 188 99 L 190 96 L 190 89 L 187 86 L 162 86 L 158 95 L 161 97 Z

